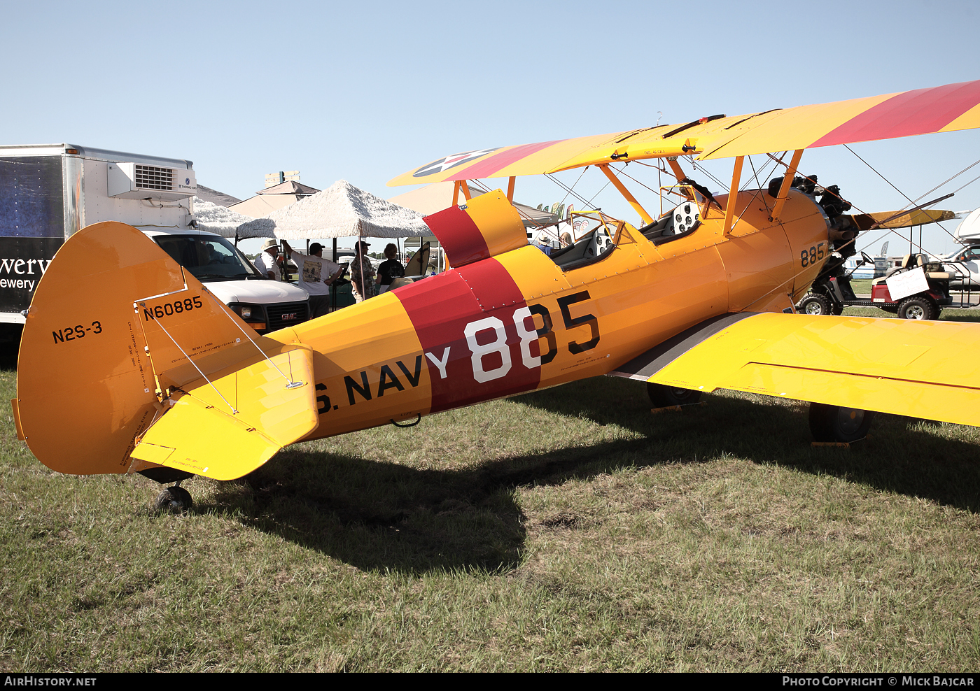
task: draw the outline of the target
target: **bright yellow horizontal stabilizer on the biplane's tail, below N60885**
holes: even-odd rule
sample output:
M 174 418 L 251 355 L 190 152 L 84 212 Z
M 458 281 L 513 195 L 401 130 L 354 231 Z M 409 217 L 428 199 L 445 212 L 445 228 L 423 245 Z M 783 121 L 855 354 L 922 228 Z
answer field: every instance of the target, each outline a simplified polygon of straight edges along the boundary
M 132 457 L 234 480 L 316 429 L 313 353 L 295 348 L 172 397 Z

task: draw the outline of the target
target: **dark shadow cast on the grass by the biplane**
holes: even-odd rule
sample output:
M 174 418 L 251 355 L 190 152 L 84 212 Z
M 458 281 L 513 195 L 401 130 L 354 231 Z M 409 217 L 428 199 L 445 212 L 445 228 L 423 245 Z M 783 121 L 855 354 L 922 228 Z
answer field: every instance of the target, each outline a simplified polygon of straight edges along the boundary
M 697 463 L 720 454 L 844 478 L 980 511 L 976 446 L 881 415 L 851 449 L 811 448 L 805 404 L 711 396 L 709 405 L 651 415 L 642 385 L 612 378 L 516 397 L 515 403 L 616 424 L 641 438 L 569 445 L 459 470 L 287 449 L 216 497 L 243 523 L 360 569 L 507 572 L 521 559 L 525 517 L 513 488 L 588 480 L 617 468 Z M 428 421 L 437 424 L 438 418 Z

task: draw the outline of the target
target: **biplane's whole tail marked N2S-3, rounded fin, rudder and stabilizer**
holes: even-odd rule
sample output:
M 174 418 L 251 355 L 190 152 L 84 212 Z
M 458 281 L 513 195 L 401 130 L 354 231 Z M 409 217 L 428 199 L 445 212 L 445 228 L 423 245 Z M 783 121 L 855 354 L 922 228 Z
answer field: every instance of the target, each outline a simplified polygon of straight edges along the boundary
M 187 470 L 224 445 L 206 474 L 239 477 L 316 427 L 311 358 L 256 335 L 137 229 L 96 223 L 61 247 L 34 292 L 14 414 L 30 450 L 61 473 Z M 173 450 L 154 449 L 170 428 Z M 209 445 L 225 431 L 236 440 Z

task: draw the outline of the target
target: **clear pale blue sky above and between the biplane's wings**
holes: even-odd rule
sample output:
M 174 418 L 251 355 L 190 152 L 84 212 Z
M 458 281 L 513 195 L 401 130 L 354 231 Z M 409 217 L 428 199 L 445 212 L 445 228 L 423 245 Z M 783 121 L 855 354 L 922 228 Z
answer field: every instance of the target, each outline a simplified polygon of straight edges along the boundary
M 344 178 L 392 197 L 410 188 L 387 180 L 459 151 L 980 78 L 978 7 L 9 4 L 0 130 L 5 144 L 68 141 L 190 159 L 200 183 L 239 198 L 261 189 L 265 173 L 290 169 L 315 187 Z M 914 199 L 980 159 L 980 133 L 853 148 Z M 628 172 L 638 176 L 635 167 Z M 905 204 L 842 147 L 810 150 L 802 167 L 861 209 Z M 709 169 L 726 179 L 731 161 Z M 606 182 L 592 173 L 576 188 L 586 197 Z M 934 195 L 978 174 L 980 165 Z M 656 187 L 656 176 L 645 182 Z M 563 196 L 544 179 L 517 181 L 525 204 Z M 612 188 L 596 204 L 635 220 Z M 944 206 L 980 207 L 980 181 Z M 930 251 L 953 249 L 940 230 L 924 237 Z

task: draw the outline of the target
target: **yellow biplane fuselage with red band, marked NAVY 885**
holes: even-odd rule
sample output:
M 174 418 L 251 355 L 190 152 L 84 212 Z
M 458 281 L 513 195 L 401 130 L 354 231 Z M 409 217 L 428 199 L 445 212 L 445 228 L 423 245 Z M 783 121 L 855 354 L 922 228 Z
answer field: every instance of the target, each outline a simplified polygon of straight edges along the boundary
M 626 225 L 612 252 L 570 270 L 524 246 L 268 338 L 314 349 L 307 438 L 606 374 L 711 316 L 802 297 L 829 252 L 826 217 L 794 190 L 774 224 L 772 202 L 740 193 L 728 237 L 712 207 L 657 244 Z

